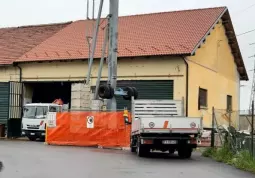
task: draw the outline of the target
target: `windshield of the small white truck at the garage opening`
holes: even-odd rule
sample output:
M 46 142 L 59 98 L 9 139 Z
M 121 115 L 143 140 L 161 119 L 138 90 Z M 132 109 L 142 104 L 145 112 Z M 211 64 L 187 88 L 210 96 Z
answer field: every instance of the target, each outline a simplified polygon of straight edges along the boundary
M 48 106 L 25 106 L 24 116 L 30 119 L 42 119 L 45 118 L 48 112 Z

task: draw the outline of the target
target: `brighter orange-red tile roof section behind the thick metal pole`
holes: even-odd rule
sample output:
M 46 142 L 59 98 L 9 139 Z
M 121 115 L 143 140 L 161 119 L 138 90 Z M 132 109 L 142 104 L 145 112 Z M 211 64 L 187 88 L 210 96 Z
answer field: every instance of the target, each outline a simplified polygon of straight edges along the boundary
M 220 7 L 120 17 L 118 56 L 190 54 L 225 9 Z M 17 61 L 87 58 L 85 30 L 91 26 L 91 21 L 73 22 Z M 101 29 L 95 58 L 101 57 L 103 34 Z

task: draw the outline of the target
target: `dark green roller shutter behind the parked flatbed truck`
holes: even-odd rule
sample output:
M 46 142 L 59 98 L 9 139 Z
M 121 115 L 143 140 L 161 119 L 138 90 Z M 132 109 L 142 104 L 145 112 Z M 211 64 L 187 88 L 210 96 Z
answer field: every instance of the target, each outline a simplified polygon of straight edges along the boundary
M 101 82 L 105 83 L 105 82 Z M 173 99 L 174 81 L 173 80 L 120 80 L 117 87 L 136 87 L 138 99 Z M 122 97 L 116 97 L 117 109 L 123 110 L 124 107 L 131 109 L 130 101 Z

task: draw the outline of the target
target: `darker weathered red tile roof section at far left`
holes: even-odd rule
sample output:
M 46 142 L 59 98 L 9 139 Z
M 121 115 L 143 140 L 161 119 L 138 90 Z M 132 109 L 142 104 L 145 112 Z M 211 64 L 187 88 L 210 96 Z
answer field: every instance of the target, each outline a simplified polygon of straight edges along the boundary
M 0 29 L 0 65 L 12 64 L 68 24 L 70 23 Z

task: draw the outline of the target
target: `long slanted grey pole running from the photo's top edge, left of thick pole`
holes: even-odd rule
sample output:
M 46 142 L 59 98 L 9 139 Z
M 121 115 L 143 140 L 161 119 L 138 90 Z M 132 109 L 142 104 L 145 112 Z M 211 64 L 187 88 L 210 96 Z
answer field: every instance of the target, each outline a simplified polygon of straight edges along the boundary
M 103 9 L 103 3 L 104 3 L 104 0 L 101 0 L 100 5 L 99 5 L 98 16 L 97 16 L 97 20 L 96 20 L 96 28 L 95 28 L 95 31 L 93 34 L 92 52 L 91 52 L 90 60 L 89 60 L 89 69 L 88 69 L 88 73 L 87 73 L 86 84 L 88 84 L 90 81 L 90 75 L 91 75 L 91 70 L 92 70 L 93 58 L 94 58 L 95 50 L 96 50 L 96 42 L 97 42 L 97 36 L 98 36 L 98 31 L 99 31 L 100 18 L 101 18 L 102 9 Z

